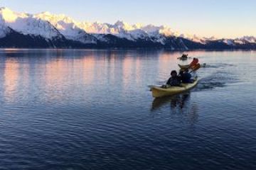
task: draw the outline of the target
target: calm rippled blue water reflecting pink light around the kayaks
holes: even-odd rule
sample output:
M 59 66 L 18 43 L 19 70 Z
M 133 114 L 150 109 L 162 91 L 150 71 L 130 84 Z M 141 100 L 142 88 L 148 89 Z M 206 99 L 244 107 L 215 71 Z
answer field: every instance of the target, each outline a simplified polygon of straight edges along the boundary
M 0 169 L 256 169 L 256 52 L 0 50 Z

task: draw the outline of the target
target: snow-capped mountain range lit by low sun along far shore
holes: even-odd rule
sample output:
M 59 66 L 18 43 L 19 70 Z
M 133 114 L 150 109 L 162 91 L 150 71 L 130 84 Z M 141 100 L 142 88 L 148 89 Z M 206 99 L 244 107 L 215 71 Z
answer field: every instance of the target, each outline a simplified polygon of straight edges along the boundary
M 201 38 L 178 33 L 169 26 L 78 22 L 63 14 L 18 13 L 1 7 L 0 47 L 250 50 L 256 49 L 256 38 Z

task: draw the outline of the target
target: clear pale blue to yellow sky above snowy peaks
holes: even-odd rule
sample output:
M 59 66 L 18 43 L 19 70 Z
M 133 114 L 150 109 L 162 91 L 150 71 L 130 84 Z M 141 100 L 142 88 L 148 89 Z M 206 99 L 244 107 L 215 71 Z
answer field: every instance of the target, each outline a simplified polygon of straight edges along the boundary
M 256 36 L 256 0 L 0 0 L 0 6 L 77 21 L 166 25 L 201 37 Z

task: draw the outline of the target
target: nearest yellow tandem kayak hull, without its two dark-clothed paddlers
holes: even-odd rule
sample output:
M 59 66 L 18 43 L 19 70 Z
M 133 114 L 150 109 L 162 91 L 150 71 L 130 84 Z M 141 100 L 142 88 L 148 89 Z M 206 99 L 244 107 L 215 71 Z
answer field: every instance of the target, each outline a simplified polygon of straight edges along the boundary
M 181 86 L 170 86 L 167 88 L 161 86 L 151 86 L 152 96 L 154 98 L 159 98 L 164 96 L 171 96 L 174 94 L 181 94 L 184 91 L 193 89 L 196 84 L 198 84 L 198 79 L 193 81 L 191 84 L 181 84 Z

